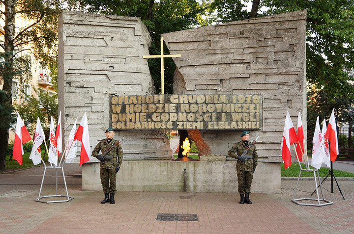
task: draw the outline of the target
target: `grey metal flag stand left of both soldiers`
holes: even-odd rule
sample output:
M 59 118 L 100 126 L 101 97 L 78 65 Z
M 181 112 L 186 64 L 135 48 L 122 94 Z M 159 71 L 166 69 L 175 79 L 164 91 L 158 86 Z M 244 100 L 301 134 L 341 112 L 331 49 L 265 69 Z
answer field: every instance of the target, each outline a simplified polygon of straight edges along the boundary
M 61 157 L 62 159 L 62 157 Z M 43 159 L 43 164 L 44 164 L 44 173 L 43 173 L 43 178 L 42 178 L 42 183 L 41 183 L 41 187 L 40 187 L 40 190 L 39 190 L 39 195 L 38 195 L 38 198 L 34 201 L 36 202 L 43 202 L 43 203 L 58 203 L 58 202 L 68 202 L 72 199 L 74 199 L 74 197 L 70 197 L 69 194 L 68 194 L 68 191 L 67 191 L 67 186 L 66 186 L 66 181 L 65 181 L 65 175 L 64 175 L 64 169 L 63 169 L 63 165 L 64 165 L 64 162 L 65 160 L 61 163 L 61 160 L 60 159 L 60 162 L 59 162 L 59 166 L 55 166 L 55 165 L 51 165 L 50 166 L 47 166 Z M 61 166 L 60 166 L 61 164 Z M 48 195 L 48 196 L 41 196 L 41 192 L 42 192 L 42 187 L 43 187 L 43 182 L 44 182 L 44 177 L 45 177 L 45 173 L 47 171 L 47 168 L 55 168 L 56 169 L 56 194 L 55 195 Z M 66 196 L 65 195 L 61 195 L 61 194 L 58 194 L 58 169 L 61 169 L 61 172 L 62 172 L 62 175 L 63 175 L 63 180 L 64 180 L 64 185 L 65 185 L 65 191 L 66 191 Z M 57 201 L 42 201 L 41 199 L 42 198 L 47 198 L 47 197 L 66 197 L 66 200 L 57 200 Z

